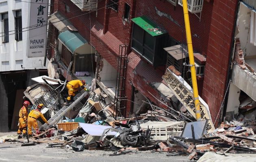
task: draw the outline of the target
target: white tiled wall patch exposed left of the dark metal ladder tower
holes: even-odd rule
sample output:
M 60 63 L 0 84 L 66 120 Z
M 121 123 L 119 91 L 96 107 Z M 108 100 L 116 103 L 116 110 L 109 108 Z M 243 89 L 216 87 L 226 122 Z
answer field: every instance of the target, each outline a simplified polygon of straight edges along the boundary
M 114 81 L 117 78 L 117 70 L 103 59 L 103 68 L 100 72 L 101 81 Z

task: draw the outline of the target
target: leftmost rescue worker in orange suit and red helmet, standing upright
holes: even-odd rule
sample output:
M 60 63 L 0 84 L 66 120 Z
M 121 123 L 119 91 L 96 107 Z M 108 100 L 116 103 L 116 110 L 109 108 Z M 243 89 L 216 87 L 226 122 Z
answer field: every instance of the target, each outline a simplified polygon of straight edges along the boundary
M 17 134 L 26 134 L 27 120 L 28 120 L 28 106 L 30 105 L 29 101 L 23 102 L 23 107 L 20 109 L 19 113 L 19 129 Z

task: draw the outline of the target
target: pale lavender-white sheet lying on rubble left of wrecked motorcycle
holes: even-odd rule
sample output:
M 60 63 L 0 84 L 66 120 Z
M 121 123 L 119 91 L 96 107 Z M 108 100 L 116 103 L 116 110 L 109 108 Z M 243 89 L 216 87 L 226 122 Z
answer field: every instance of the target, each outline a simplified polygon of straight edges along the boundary
M 101 126 L 94 124 L 79 123 L 79 126 L 92 136 L 101 136 L 105 129 L 113 128 L 112 126 Z M 117 132 L 108 132 L 107 136 L 115 136 Z

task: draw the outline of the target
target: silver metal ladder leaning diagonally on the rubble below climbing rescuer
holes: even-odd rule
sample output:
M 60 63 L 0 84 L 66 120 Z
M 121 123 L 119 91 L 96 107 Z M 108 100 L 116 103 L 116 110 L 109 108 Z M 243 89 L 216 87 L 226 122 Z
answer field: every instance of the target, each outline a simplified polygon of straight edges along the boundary
M 46 123 L 43 124 L 43 126 L 41 126 L 39 128 L 39 130 L 47 130 L 50 127 L 54 127 L 60 120 L 61 118 L 69 111 L 71 110 L 73 107 L 76 106 L 76 104 L 78 104 L 78 102 L 80 102 L 83 98 L 85 98 L 85 96 L 89 94 L 89 92 L 84 92 L 80 97 L 78 97 L 72 104 L 70 104 L 68 107 L 64 106 L 62 107 L 62 109 L 60 109 L 56 114 L 53 115 L 52 118 L 50 118 L 48 120 L 49 125 L 47 125 Z

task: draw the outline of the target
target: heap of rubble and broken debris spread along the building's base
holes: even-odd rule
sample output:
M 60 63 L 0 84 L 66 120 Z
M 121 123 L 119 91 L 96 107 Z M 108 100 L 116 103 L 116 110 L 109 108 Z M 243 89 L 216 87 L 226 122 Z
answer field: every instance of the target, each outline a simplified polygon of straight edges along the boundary
M 69 161 L 70 157 L 79 161 L 84 160 L 84 156 L 91 156 L 91 160 L 94 160 L 102 155 L 108 156 L 109 160 L 111 156 L 146 160 L 153 155 L 155 158 L 159 156 L 173 161 L 187 161 L 208 156 L 214 158 L 216 153 L 216 156 L 229 153 L 227 155 L 230 157 L 232 153 L 236 156 L 256 153 L 253 110 L 240 113 L 232 121 L 225 121 L 215 129 L 208 105 L 200 98 L 202 120 L 196 121 L 195 111 L 191 109 L 194 103 L 192 99 L 189 100 L 192 89 L 170 69 L 167 69 L 163 79 L 170 89 L 178 90 L 174 91 L 174 95 L 182 107 L 157 99 L 164 108 L 145 98 L 143 104 L 128 118 L 122 115 L 124 112 L 120 105 L 116 106 L 121 101 L 115 103 L 114 98 L 96 85 L 83 87 L 72 96 L 70 102 L 65 102 L 67 92 L 62 91 L 63 88 L 61 90 L 65 83 L 47 77 L 41 79 L 43 81 L 28 87 L 24 94 L 33 107 L 43 103 L 40 112 L 47 116 L 47 122 L 43 124 L 38 121 L 39 128 L 33 130 L 32 137 L 28 134 L 24 134 L 24 138 L 12 134 L 1 136 L 1 148 L 12 150 L 13 145 L 18 150 L 41 148 L 40 153 L 46 153 L 46 158 L 37 152 L 29 153 L 26 157 L 35 155 L 54 161 Z M 53 152 L 50 151 L 53 149 Z M 175 158 L 177 156 L 180 159 Z M 120 161 L 118 158 L 113 159 Z

